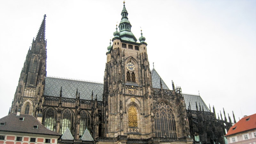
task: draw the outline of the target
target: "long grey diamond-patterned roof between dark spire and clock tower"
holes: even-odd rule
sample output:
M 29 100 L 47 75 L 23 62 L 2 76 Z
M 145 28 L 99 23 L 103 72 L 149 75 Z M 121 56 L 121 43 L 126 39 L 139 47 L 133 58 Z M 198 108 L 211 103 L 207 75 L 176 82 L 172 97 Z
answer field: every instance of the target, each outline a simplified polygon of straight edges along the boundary
M 102 101 L 103 84 L 101 83 L 45 77 L 44 95 L 59 97 L 60 87 L 64 98 L 76 98 L 76 89 L 78 89 L 80 99 L 91 100 L 93 91 L 93 96 L 97 94 L 97 99 Z

